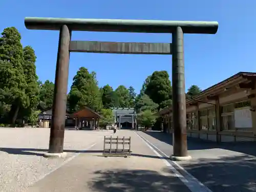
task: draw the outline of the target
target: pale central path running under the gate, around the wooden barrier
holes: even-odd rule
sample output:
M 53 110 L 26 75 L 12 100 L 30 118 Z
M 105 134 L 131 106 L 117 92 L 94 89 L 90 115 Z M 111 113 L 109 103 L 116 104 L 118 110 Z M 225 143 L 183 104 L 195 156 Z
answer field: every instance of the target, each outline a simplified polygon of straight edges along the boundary
M 190 192 L 183 177 L 135 131 L 121 130 L 116 135 L 131 136 L 131 157 L 102 157 L 102 138 L 90 151 L 81 153 L 25 191 Z

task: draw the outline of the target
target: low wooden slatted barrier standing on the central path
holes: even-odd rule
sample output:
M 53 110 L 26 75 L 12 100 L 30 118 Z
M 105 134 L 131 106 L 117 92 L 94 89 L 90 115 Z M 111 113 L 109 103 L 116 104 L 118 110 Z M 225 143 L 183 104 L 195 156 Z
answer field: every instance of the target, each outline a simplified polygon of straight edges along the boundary
M 109 147 L 108 147 L 109 146 Z M 119 147 L 120 146 L 120 147 Z M 126 148 L 125 146 L 129 146 Z M 113 138 L 112 136 L 104 136 L 103 156 L 131 156 L 131 137 L 129 138 Z

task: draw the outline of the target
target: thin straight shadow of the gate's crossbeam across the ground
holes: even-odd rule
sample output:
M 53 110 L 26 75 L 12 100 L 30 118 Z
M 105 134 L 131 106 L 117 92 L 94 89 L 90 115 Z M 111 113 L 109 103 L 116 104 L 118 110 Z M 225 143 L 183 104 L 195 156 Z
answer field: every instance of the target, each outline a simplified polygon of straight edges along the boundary
M 41 148 L 0 148 L 0 151 L 6 152 L 8 154 L 13 155 L 35 155 L 35 156 L 43 156 L 44 153 L 48 152 L 46 149 Z M 68 153 L 99 153 L 102 154 L 102 150 L 64 150 Z M 153 155 L 144 155 L 144 154 L 135 154 L 132 153 L 132 156 L 137 157 L 146 157 L 146 158 L 154 158 L 154 159 L 160 159 L 158 156 Z M 168 159 L 167 157 L 161 157 L 162 159 Z

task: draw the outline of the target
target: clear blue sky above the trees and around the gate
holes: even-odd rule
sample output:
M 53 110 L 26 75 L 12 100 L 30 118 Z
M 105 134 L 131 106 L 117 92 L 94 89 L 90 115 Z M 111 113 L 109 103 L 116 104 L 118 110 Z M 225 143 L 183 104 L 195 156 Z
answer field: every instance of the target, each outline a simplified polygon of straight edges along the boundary
M 216 35 L 185 34 L 186 89 L 206 89 L 240 71 L 256 72 L 256 1 L 234 0 L 1 0 L 0 30 L 16 27 L 23 46 L 34 48 L 39 79 L 54 81 L 58 31 L 27 30 L 26 16 L 112 19 L 218 21 Z M 73 32 L 73 40 L 170 42 L 169 34 Z M 80 67 L 97 73 L 99 86 L 133 86 L 139 92 L 144 79 L 156 70 L 171 78 L 171 56 L 72 53 L 69 90 Z M 115 77 L 114 77 L 114 76 Z

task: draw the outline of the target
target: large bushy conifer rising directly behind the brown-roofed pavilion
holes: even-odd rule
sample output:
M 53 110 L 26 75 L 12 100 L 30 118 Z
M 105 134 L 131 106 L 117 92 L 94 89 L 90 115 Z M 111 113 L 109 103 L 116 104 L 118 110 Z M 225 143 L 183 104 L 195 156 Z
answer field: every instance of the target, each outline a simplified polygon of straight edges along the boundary
M 102 108 L 101 92 L 99 90 L 96 73 L 89 73 L 88 69 L 81 67 L 73 78 L 68 95 L 69 109 L 71 112 L 88 106 L 94 111 Z

